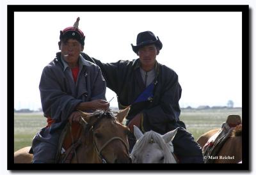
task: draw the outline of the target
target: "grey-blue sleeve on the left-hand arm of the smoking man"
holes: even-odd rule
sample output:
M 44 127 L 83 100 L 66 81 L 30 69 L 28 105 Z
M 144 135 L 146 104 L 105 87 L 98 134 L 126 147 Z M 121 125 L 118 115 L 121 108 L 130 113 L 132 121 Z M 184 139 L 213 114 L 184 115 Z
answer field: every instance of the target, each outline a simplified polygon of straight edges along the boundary
M 60 70 L 59 70 L 60 71 Z M 65 83 L 61 82 L 61 75 L 51 65 L 46 66 L 42 72 L 39 89 L 42 102 L 42 109 L 45 117 L 54 119 L 51 129 L 65 125 L 68 116 L 82 102 L 77 100 L 65 91 Z

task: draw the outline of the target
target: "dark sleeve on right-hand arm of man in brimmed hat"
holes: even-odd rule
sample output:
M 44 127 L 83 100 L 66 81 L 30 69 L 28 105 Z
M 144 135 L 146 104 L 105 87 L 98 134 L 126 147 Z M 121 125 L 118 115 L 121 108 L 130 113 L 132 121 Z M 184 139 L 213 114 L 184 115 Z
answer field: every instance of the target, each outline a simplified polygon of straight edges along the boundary
M 157 105 L 142 111 L 145 131 L 155 130 L 159 133 L 166 133 L 179 121 L 179 99 L 182 89 L 177 74 L 174 73 L 173 79 L 162 86 L 163 91 L 156 91 L 156 96 L 159 95 Z

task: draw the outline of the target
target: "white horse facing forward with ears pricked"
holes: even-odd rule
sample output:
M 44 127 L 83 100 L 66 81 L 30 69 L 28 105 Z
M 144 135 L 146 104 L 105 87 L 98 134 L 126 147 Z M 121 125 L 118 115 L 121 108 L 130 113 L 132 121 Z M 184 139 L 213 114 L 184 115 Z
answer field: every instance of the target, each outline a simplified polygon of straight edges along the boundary
M 143 135 L 140 129 L 134 126 L 137 141 L 131 152 L 133 162 L 136 164 L 177 164 L 172 145 L 177 129 L 164 135 L 152 130 Z

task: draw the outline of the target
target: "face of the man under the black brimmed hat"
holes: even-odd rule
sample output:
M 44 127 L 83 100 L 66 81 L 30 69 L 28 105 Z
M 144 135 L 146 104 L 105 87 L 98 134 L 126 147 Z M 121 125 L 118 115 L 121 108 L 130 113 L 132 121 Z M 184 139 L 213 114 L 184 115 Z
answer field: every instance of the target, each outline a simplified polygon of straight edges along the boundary
M 142 66 L 154 66 L 158 55 L 156 45 L 146 45 L 138 50 Z

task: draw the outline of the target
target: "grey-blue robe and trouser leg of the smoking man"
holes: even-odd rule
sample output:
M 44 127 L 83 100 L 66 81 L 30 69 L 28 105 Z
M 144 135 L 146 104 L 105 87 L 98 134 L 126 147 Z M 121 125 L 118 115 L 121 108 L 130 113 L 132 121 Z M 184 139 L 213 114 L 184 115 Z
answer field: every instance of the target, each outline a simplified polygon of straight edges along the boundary
M 45 66 L 39 89 L 44 116 L 54 120 L 49 128 L 40 130 L 33 139 L 34 160 L 44 162 L 54 158 L 61 129 L 70 114 L 76 111 L 76 106 L 81 102 L 106 100 L 106 81 L 99 66 L 80 56 L 75 84 L 70 68 L 63 64 L 58 52 L 56 58 Z

